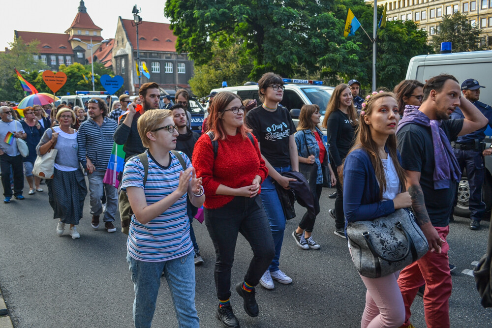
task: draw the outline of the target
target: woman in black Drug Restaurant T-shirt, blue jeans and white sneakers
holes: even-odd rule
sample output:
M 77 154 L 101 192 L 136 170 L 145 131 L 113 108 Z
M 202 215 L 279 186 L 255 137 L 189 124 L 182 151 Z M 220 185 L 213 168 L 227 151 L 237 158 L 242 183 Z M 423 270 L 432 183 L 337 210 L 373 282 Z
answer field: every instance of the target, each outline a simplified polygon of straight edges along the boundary
M 247 113 L 246 123 L 258 140 L 261 156 L 268 168 L 268 177 L 261 184 L 260 198 L 270 222 L 275 244 L 275 257 L 270 268 L 260 279 L 266 289 L 273 289 L 272 279 L 281 284 L 290 284 L 292 279 L 279 268 L 280 250 L 285 230 L 285 215 L 278 199 L 274 181 L 284 188 L 289 187 L 289 179 L 281 172 L 299 171 L 299 156 L 294 138 L 296 127 L 285 107 L 278 106 L 283 98 L 283 80 L 272 72 L 265 73 L 258 81 L 259 96 L 263 104 Z

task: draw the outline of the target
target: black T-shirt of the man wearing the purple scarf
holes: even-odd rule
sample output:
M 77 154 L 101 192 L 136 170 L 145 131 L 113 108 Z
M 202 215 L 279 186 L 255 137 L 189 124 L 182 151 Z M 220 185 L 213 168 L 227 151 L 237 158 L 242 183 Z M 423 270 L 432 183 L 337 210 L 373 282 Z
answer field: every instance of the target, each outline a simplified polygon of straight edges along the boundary
M 441 121 L 441 128 L 449 142 L 455 141 L 463 127 L 462 119 Z M 431 128 L 417 124 L 403 126 L 397 134 L 398 150 L 401 154 L 401 166 L 405 170 L 420 172 L 420 186 L 429 218 L 434 227 L 446 227 L 449 224 L 451 209 L 456 197 L 456 182 L 450 181 L 449 188 L 434 190 L 434 148 Z

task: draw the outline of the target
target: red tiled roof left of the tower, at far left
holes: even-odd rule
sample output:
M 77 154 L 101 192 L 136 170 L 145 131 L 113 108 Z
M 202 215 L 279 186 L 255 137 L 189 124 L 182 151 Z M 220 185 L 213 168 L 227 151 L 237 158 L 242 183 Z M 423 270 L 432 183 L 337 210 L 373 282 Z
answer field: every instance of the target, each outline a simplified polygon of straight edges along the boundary
M 14 31 L 14 33 L 16 38 L 22 37 L 26 44 L 38 40 L 37 50 L 41 54 L 73 55 L 72 46 L 68 42 L 67 34 L 27 31 Z

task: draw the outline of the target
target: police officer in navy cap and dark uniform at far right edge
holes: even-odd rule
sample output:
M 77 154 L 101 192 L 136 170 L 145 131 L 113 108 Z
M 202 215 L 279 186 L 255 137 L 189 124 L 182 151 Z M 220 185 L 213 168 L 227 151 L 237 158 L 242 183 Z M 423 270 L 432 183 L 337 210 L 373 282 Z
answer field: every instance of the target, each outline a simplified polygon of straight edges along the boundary
M 482 114 L 489 119 L 489 126 L 492 127 L 492 107 L 484 104 L 478 99 L 480 98 L 481 86 L 477 80 L 468 79 L 461 84 L 461 92 L 463 96 L 471 101 Z M 459 108 L 451 114 L 452 119 L 463 119 L 464 116 Z M 490 155 L 492 149 L 485 149 L 485 130 L 483 128 L 458 137 L 457 141 L 452 144 L 458 163 L 460 164 L 461 172 L 466 168 L 466 176 L 470 186 L 470 229 L 480 229 L 480 220 L 485 214 L 485 203 L 482 202 L 482 184 L 485 179 L 484 155 Z M 456 206 L 457 201 L 455 201 Z

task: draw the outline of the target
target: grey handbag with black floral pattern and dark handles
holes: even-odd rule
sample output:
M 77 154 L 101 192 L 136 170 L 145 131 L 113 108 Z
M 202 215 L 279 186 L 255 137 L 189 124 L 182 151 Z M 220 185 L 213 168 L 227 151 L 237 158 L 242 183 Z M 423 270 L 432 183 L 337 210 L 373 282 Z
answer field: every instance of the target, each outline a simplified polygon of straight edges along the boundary
M 408 209 L 372 221 L 349 222 L 347 237 L 355 268 L 369 278 L 394 273 L 429 251 L 427 238 Z

